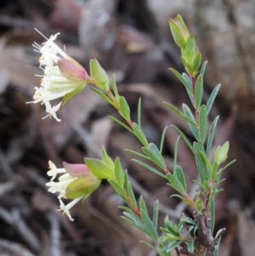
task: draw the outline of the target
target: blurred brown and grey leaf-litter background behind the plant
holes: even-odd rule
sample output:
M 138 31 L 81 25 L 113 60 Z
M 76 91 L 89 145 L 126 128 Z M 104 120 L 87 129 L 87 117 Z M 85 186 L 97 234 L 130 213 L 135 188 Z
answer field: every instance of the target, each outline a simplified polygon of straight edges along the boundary
M 60 47 L 88 70 L 97 58 L 111 76 L 116 74 L 136 120 L 139 98 L 143 128 L 159 145 L 167 129 L 164 157 L 173 168 L 174 124 L 190 138 L 189 128 L 163 101 L 181 106 L 186 92 L 168 67 L 182 71 L 168 18 L 181 14 L 203 60 L 208 60 L 204 101 L 222 83 L 210 121 L 220 115 L 215 145 L 230 142 L 224 172 L 224 192 L 217 197 L 216 230 L 227 228 L 220 256 L 253 256 L 255 251 L 255 3 L 252 0 L 1 0 L 0 2 L 0 255 L 1 256 L 156 256 L 139 241 L 148 237 L 120 219 L 122 199 L 103 183 L 83 204 L 71 209 L 75 221 L 61 213 L 49 194 L 48 160 L 83 162 L 99 157 L 105 145 L 112 158 L 120 156 L 137 196 L 149 207 L 161 202 L 160 224 L 167 214 L 177 221 L 190 215 L 165 181 L 130 162 L 123 149 L 140 144 L 109 119 L 116 111 L 86 88 L 59 112 L 62 122 L 45 119 L 44 106 L 26 105 L 42 74 L 31 43 L 42 43 L 60 31 Z M 195 161 L 184 142 L 178 162 L 187 174 L 189 190 L 196 178 Z M 151 210 L 151 209 L 150 209 Z

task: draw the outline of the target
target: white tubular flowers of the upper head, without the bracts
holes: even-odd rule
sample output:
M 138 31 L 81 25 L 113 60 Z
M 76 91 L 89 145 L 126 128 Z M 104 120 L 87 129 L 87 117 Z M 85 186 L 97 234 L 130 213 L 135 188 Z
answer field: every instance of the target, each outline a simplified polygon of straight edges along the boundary
M 38 32 L 42 35 L 40 31 Z M 36 104 L 38 102 L 42 102 L 42 104 L 46 106 L 46 111 L 48 112 L 46 117 L 54 117 L 58 122 L 60 122 L 61 119 L 57 117 L 56 112 L 59 111 L 61 102 L 58 105 L 52 106 L 50 101 L 63 98 L 66 94 L 71 93 L 71 91 L 77 88 L 77 84 L 64 77 L 59 70 L 58 60 L 63 58 L 66 60 L 72 59 L 54 43 L 54 40 L 58 35 L 59 33 L 51 36 L 49 39 L 42 35 L 42 37 L 47 39 L 46 43 L 43 43 L 42 46 L 38 43 L 32 44 L 36 48 L 35 50 L 42 54 L 39 58 L 39 62 L 40 67 L 42 65 L 44 66 L 44 68 L 41 67 L 44 75 L 38 76 L 42 77 L 41 87 L 35 88 L 36 92 L 33 96 L 34 100 L 27 103 Z

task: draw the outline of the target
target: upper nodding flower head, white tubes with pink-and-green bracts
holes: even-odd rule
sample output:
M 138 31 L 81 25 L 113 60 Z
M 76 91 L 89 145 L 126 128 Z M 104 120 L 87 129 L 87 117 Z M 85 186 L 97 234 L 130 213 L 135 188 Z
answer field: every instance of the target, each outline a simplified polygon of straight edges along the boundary
M 42 35 L 41 32 L 39 33 Z M 41 86 L 40 88 L 35 88 L 34 100 L 28 103 L 42 102 L 48 112 L 46 117 L 54 117 L 60 122 L 61 120 L 57 117 L 56 112 L 61 108 L 62 101 L 54 106 L 50 104 L 50 101 L 63 98 L 66 94 L 71 94 L 81 83 L 87 84 L 89 76 L 82 65 L 65 54 L 54 43 L 58 35 L 59 33 L 51 36 L 49 39 L 45 37 L 47 42 L 43 43 L 42 46 L 38 43 L 33 44 L 36 48 L 35 50 L 42 54 L 39 62 L 44 75 L 37 76 L 42 77 Z M 42 37 L 44 36 L 42 35 Z

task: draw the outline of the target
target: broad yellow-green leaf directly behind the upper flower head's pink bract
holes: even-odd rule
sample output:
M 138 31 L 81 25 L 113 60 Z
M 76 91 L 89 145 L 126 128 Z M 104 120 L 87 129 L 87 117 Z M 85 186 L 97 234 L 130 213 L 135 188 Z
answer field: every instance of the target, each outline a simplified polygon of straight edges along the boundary
M 109 77 L 105 70 L 101 67 L 98 60 L 90 60 L 89 63 L 90 76 L 96 80 L 96 84 L 99 88 L 104 91 L 109 90 Z

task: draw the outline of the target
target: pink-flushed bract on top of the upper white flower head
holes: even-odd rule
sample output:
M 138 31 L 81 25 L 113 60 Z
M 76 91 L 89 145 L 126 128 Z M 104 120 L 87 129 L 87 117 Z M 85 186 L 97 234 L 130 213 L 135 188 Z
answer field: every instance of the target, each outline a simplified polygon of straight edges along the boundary
M 76 60 L 61 58 L 58 60 L 59 71 L 71 82 L 88 82 L 88 73 Z

